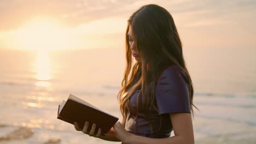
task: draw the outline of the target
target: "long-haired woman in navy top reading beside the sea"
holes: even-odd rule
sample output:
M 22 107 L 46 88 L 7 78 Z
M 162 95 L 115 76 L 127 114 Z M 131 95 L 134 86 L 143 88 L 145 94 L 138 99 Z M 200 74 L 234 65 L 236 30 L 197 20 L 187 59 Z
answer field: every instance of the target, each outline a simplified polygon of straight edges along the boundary
M 132 56 L 136 59 L 133 66 Z M 88 123 L 84 128 L 75 123 L 75 129 L 122 143 L 194 143 L 193 84 L 176 26 L 166 9 L 148 4 L 130 16 L 126 61 L 118 93 L 123 122 L 114 125 L 115 133 L 101 136 L 98 129 L 95 134 L 95 126 L 87 131 Z

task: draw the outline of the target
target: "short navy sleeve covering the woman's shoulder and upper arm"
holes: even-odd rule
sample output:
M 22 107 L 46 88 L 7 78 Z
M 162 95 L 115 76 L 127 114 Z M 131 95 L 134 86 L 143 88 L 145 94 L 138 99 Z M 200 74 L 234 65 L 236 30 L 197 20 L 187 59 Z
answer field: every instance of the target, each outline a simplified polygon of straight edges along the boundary
M 176 112 L 191 113 L 188 84 L 181 75 L 181 70 L 178 66 L 172 65 L 159 76 L 155 89 L 159 115 Z

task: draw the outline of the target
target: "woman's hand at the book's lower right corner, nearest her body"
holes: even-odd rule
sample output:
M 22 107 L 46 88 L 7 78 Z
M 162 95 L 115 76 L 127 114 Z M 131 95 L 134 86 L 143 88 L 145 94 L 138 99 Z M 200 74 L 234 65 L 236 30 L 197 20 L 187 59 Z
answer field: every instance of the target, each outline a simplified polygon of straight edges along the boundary
M 117 139 L 119 139 L 123 143 L 129 143 L 132 134 L 126 131 L 120 122 L 115 123 L 113 128 L 115 130 L 114 136 L 117 137 Z

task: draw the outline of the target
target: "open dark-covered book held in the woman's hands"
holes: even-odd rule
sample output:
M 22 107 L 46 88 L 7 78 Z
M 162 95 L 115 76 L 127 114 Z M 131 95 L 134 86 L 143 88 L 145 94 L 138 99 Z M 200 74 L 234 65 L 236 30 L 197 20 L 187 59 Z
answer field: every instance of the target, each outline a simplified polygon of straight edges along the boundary
M 57 118 L 73 125 L 74 122 L 77 122 L 80 128 L 84 127 L 85 122 L 89 122 L 88 131 L 95 123 L 95 134 L 97 134 L 98 128 L 101 128 L 102 136 L 108 132 L 113 134 L 113 130 L 110 129 L 119 119 L 72 94 L 69 94 L 67 101 L 63 100 L 59 105 Z

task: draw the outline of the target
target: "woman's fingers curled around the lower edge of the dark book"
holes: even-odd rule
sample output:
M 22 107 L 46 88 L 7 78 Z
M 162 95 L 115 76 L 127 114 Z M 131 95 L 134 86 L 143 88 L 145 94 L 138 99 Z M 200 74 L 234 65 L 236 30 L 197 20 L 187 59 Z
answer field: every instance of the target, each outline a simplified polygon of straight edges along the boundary
M 88 126 L 89 126 L 89 122 L 85 122 L 84 124 L 84 128 L 80 128 L 78 126 L 78 123 L 77 122 L 74 122 L 74 127 L 77 131 L 82 131 L 84 134 L 88 134 L 89 136 L 93 136 L 93 137 L 100 137 L 101 135 L 101 128 L 98 129 L 98 133 L 95 134 L 95 128 L 96 128 L 96 124 L 92 124 L 92 128 L 91 128 L 91 131 L 88 131 Z

